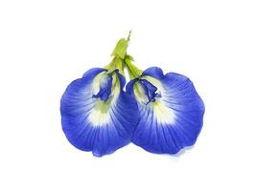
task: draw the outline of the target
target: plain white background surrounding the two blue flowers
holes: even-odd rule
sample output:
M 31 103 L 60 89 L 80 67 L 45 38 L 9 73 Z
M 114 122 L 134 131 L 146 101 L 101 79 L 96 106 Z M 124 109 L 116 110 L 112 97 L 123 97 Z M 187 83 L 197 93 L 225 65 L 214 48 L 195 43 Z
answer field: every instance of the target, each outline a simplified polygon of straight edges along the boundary
M 255 1 L 0 2 L 0 190 L 256 190 Z M 182 155 L 129 144 L 99 159 L 61 131 L 66 86 L 129 30 L 139 68 L 185 74 L 204 100 Z

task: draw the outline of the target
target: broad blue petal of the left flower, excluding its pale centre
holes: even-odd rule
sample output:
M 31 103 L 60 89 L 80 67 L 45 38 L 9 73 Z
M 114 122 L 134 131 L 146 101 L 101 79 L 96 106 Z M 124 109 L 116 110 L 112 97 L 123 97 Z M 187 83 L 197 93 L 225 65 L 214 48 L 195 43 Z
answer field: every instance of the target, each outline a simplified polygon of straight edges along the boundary
M 122 90 L 121 81 L 120 94 L 111 102 L 107 113 L 109 120 L 102 125 L 90 120 L 92 111 L 101 101 L 92 97 L 93 79 L 102 72 L 105 69 L 92 69 L 73 81 L 60 103 L 62 129 L 66 138 L 78 149 L 92 151 L 97 157 L 113 153 L 128 144 L 138 118 L 137 104 Z

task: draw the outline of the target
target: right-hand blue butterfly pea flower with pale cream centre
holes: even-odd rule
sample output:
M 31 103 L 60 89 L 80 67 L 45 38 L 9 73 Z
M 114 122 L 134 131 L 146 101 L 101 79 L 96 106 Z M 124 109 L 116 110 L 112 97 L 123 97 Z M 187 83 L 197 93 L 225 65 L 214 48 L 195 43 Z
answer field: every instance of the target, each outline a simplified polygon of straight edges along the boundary
M 132 142 L 157 154 L 176 154 L 193 145 L 202 127 L 204 104 L 192 81 L 182 74 L 164 75 L 157 67 L 140 74 L 131 63 L 128 66 L 137 72 L 127 85 L 139 110 Z

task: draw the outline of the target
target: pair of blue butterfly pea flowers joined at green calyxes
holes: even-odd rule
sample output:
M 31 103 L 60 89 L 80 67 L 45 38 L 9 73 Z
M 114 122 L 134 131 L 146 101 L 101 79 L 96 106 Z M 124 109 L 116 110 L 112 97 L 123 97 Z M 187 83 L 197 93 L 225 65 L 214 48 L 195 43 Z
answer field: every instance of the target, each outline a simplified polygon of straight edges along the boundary
M 96 157 L 130 141 L 158 154 L 175 154 L 193 145 L 204 114 L 193 83 L 157 67 L 142 72 L 127 53 L 128 40 L 119 40 L 105 68 L 90 69 L 67 87 L 60 103 L 66 138 Z M 130 78 L 127 85 L 124 69 Z

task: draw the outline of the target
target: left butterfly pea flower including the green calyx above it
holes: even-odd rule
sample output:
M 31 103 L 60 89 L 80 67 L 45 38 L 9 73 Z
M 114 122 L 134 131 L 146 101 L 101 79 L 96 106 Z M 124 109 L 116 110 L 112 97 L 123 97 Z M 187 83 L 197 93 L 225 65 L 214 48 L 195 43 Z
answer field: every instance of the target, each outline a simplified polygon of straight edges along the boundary
M 62 130 L 82 151 L 96 157 L 127 145 L 137 123 L 135 100 L 124 92 L 124 56 L 127 39 L 121 39 L 105 68 L 88 70 L 68 85 L 60 101 Z

